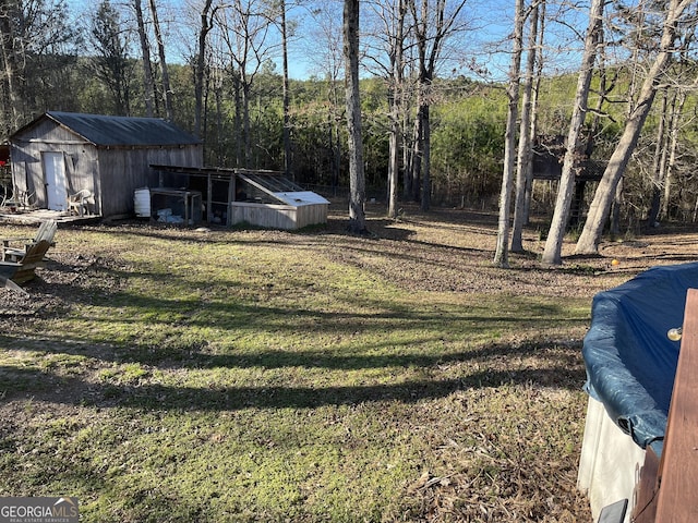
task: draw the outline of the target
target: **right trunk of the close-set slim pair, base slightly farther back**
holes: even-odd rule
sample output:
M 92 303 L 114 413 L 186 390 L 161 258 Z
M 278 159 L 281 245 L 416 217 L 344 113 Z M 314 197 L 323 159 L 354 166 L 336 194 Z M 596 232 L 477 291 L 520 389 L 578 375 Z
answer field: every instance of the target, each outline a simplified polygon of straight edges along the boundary
M 526 59 L 526 80 L 521 96 L 521 121 L 519 123 L 519 148 L 516 162 L 516 198 L 514 204 L 514 228 L 512 230 L 512 252 L 524 252 L 524 224 L 526 223 L 527 170 L 531 163 L 531 121 L 533 72 L 535 70 L 535 44 L 538 41 L 539 5 L 532 8 L 529 20 L 528 50 Z

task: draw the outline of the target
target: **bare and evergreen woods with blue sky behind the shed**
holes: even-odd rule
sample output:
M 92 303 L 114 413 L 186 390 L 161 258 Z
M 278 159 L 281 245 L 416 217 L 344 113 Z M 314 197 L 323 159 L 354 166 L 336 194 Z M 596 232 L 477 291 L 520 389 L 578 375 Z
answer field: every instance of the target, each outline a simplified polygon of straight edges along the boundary
M 104 0 L 77 19 L 75 5 L 0 7 L 3 136 L 47 110 L 166 118 L 204 141 L 207 165 L 286 170 L 348 195 L 341 4 Z M 609 227 L 695 220 L 695 2 L 598 5 L 362 3 L 366 193 L 390 217 L 407 202 L 498 206 L 498 243 L 514 251 L 542 211 L 549 263 L 559 262 L 575 198 L 580 253 Z M 312 72 L 293 80 L 300 60 Z M 559 173 L 543 180 L 533 166 L 557 137 Z M 604 166 L 599 179 L 578 183 L 592 163 Z

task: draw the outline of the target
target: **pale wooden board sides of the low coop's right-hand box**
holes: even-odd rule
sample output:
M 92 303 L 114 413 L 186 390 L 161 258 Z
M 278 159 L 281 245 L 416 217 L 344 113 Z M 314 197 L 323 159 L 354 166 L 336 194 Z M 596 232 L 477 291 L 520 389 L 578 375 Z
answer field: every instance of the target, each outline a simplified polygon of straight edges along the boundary
M 230 223 L 250 223 L 267 229 L 293 230 L 327 222 L 327 205 L 254 204 L 234 202 L 229 206 Z

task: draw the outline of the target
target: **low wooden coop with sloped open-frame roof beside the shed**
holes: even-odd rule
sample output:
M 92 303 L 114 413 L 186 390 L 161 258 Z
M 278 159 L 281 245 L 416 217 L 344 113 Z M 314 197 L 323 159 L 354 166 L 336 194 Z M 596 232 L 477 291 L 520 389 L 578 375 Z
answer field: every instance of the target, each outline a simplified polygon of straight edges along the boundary
M 327 222 L 329 202 L 304 191 L 280 172 L 171 165 L 152 167 L 159 179 L 182 180 L 181 186 L 186 193 L 183 198 L 201 197 L 208 223 L 293 230 Z M 149 192 L 152 205 L 147 216 L 156 217 L 160 210 L 155 205 L 156 197 L 164 195 L 159 188 Z M 163 205 L 169 208 L 167 204 Z

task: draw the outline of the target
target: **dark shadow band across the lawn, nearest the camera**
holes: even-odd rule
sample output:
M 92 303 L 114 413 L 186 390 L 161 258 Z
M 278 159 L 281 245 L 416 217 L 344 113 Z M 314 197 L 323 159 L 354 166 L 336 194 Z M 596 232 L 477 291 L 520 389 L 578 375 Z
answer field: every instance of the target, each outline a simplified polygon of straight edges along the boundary
M 164 385 L 117 386 L 86 384 L 79 378 L 49 378 L 31 369 L 0 367 L 0 390 L 8 398 L 68 404 L 130 406 L 145 410 L 315 409 L 324 405 L 354 405 L 369 402 L 414 403 L 447 397 L 458 390 L 502 385 L 558 382 L 569 374 L 563 367 L 517 372 L 480 372 L 459 379 L 405 381 L 394 385 L 342 387 L 221 387 L 192 388 Z M 582 375 L 575 373 L 581 385 Z M 32 382 L 33 385 L 27 385 Z M 20 384 L 17 386 L 17 384 Z M 24 384 L 24 385 L 21 385 Z M 577 389 L 579 387 L 576 387 Z M 10 393 L 12 391 L 12 393 Z M 20 392 L 24 391 L 25 394 Z

